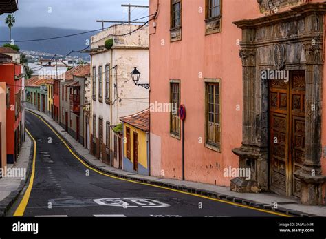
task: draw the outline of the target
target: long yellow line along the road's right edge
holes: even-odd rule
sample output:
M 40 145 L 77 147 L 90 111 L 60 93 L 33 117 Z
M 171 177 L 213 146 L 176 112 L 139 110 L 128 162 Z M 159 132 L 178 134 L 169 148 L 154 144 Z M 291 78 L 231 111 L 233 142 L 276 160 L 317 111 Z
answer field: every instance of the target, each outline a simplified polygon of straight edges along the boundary
M 30 112 L 30 111 L 28 110 L 28 112 Z M 186 192 L 186 191 L 180 191 L 180 190 L 177 190 L 177 189 L 171 189 L 169 187 L 162 187 L 162 186 L 158 186 L 158 185 L 152 185 L 150 183 L 141 183 L 141 182 L 137 182 L 137 181 L 134 181 L 134 180 L 129 180 L 129 179 L 125 179 L 125 178 L 119 178 L 119 177 L 116 177 L 116 176 L 111 176 L 109 174 L 105 174 L 103 172 L 98 171 L 97 169 L 94 169 L 93 167 L 90 167 L 89 165 L 87 165 L 87 163 L 84 162 L 84 160 L 82 160 L 81 158 L 79 158 L 72 151 L 72 149 L 65 142 L 65 140 L 59 134 L 57 134 L 56 131 L 53 129 L 53 127 L 51 125 L 49 125 L 45 120 L 43 120 L 43 118 L 41 116 L 39 116 L 38 114 L 35 114 L 34 112 L 30 112 L 30 113 L 31 114 L 34 114 L 34 116 L 38 117 L 41 121 L 43 121 L 43 123 L 45 123 L 45 125 L 47 125 L 47 127 L 49 127 L 52 130 L 52 132 L 54 132 L 54 134 L 56 134 L 56 136 L 58 136 L 58 138 L 63 142 L 63 144 L 65 145 L 65 147 L 67 147 L 67 149 L 69 150 L 69 152 L 77 160 L 79 160 L 80 163 L 82 163 L 85 167 L 91 169 L 92 171 L 94 171 L 94 172 L 96 172 L 98 174 L 102 174 L 102 175 L 107 176 L 109 178 L 115 178 L 115 179 L 118 179 L 118 180 L 123 180 L 123 181 L 129 182 L 129 183 L 136 183 L 136 184 L 139 184 L 139 185 L 146 185 L 146 186 L 151 186 L 151 187 L 157 187 L 157 188 L 160 188 L 160 189 L 166 189 L 166 190 L 169 190 L 169 191 L 175 191 L 175 192 L 180 193 L 180 194 L 187 194 L 187 195 L 196 196 L 196 197 L 199 197 L 199 198 L 205 198 L 205 199 L 208 199 L 208 200 L 213 200 L 213 201 L 216 201 L 216 202 L 223 202 L 223 203 L 226 203 L 226 204 L 229 204 L 229 205 L 233 205 L 233 206 L 237 206 L 237 207 L 244 207 L 244 208 L 252 209 L 252 210 L 255 210 L 255 211 L 262 211 L 262 212 L 265 212 L 267 214 L 274 214 L 274 215 L 277 215 L 277 216 L 291 217 L 290 215 L 282 214 L 282 213 L 279 213 L 279 212 L 276 212 L 276 211 L 268 211 L 268 210 L 265 210 L 265 209 L 259 209 L 257 207 L 251 207 L 251 206 L 248 206 L 248 205 L 242 205 L 242 204 L 239 204 L 237 202 L 228 202 L 228 201 L 225 201 L 225 200 L 220 200 L 220 199 L 216 199 L 216 198 L 210 198 L 208 196 L 203 196 L 203 195 L 199 195 L 199 194 L 193 194 L 193 193 L 189 193 L 189 192 Z

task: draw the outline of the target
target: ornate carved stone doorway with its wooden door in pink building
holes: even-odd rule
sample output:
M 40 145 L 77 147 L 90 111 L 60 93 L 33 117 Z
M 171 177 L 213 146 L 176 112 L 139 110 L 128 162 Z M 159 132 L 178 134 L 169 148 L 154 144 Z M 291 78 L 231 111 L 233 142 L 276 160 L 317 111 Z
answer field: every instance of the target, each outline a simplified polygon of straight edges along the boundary
M 322 187 L 326 176 L 320 159 L 325 12 L 326 3 L 306 3 L 234 23 L 242 30 L 243 141 L 240 148 L 232 151 L 239 156 L 239 167 L 251 169 L 252 179 L 231 180 L 232 191 L 277 191 L 298 196 L 303 204 L 324 203 Z M 261 77 L 265 69 L 300 71 L 292 76 L 299 77 L 301 85 L 298 87 L 292 79 L 288 87 L 274 87 L 273 91 L 269 81 Z M 283 102 L 274 111 L 270 111 L 270 93 L 280 94 L 279 97 L 284 94 Z M 286 113 L 280 105 L 284 107 L 285 101 L 290 107 Z M 276 120 L 281 121 L 282 117 L 285 125 L 275 127 Z M 278 135 L 277 142 L 284 142 L 273 141 L 271 146 L 271 134 Z M 279 158 L 276 160 L 275 156 Z M 281 180 L 275 177 L 280 172 Z

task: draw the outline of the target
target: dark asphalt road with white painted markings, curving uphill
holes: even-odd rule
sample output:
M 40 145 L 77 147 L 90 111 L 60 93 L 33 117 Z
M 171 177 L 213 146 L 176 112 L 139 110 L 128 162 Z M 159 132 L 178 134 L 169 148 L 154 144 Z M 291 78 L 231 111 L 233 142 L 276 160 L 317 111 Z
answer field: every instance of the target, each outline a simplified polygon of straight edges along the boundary
M 45 123 L 26 114 L 37 147 L 34 184 L 23 216 L 276 216 L 93 172 Z

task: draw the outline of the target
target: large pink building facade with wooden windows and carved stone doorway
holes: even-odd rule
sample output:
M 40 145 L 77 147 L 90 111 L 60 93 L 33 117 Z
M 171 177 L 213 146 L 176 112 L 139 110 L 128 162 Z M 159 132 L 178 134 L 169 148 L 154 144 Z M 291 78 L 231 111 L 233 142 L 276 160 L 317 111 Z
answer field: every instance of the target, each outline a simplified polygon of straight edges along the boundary
M 325 9 L 151 0 L 151 174 L 325 203 Z

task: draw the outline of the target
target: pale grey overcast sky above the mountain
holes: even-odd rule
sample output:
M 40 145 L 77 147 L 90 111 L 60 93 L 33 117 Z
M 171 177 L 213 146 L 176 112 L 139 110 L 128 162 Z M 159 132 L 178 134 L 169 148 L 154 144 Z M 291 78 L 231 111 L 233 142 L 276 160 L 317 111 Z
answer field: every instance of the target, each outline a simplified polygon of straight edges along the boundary
M 94 30 L 101 28 L 96 20 L 126 21 L 128 8 L 121 4 L 129 3 L 148 5 L 149 0 L 19 0 L 14 26 Z M 131 19 L 146 17 L 148 12 L 148 8 L 133 8 Z M 0 17 L 0 25 L 6 15 Z

